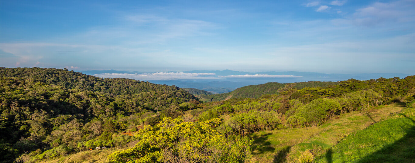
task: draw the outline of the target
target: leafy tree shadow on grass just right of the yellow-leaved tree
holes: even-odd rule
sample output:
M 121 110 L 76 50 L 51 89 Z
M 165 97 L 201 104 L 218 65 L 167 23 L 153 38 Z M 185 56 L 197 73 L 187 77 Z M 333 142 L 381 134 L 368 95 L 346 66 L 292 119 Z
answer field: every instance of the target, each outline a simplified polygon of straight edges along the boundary
M 254 139 L 254 142 L 251 145 L 252 154 L 262 154 L 264 152 L 273 152 L 275 150 L 271 145 L 271 141 L 268 141 L 268 135 L 271 135 L 271 133 L 251 136 L 251 138 Z

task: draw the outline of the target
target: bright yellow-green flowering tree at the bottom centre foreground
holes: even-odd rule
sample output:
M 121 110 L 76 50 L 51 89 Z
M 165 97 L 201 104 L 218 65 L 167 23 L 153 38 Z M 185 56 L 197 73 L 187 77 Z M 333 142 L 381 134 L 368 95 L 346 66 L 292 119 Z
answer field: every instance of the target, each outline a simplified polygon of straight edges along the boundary
M 112 163 L 240 163 L 250 156 L 252 140 L 224 136 L 215 130 L 220 119 L 198 125 L 164 118 L 156 127 L 139 131 L 141 141 L 133 148 L 112 153 Z

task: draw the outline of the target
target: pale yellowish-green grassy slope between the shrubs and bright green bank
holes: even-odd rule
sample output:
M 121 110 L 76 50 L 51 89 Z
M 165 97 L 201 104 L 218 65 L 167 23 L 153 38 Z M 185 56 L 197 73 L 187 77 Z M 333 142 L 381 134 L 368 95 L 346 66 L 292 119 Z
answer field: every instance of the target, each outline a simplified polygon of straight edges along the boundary
M 388 105 L 374 109 L 342 114 L 320 127 L 260 131 L 254 138 L 251 163 L 298 162 L 300 153 L 315 149 L 317 155 L 344 139 L 347 135 L 399 113 L 403 105 Z

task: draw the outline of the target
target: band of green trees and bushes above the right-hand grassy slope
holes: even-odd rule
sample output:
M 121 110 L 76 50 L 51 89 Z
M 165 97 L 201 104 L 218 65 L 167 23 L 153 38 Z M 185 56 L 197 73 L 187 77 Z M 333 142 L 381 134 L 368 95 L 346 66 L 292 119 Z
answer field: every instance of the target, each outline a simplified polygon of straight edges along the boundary
M 319 126 L 328 119 L 345 112 L 368 109 L 391 102 L 406 102 L 415 96 L 414 78 L 380 78 L 378 80 L 350 79 L 339 85 L 296 89 L 295 83 L 286 84 L 276 95 L 261 95 L 257 99 L 231 98 L 222 102 L 209 102 L 205 112 L 198 117 L 207 120 L 229 114 L 220 131 L 223 134 L 242 134 L 275 127 L 258 127 L 250 113 L 272 113 L 273 117 L 286 119 L 286 127 Z M 226 107 L 225 107 L 226 106 Z M 232 108 L 224 112 L 222 108 Z M 258 114 L 259 114 L 258 113 Z M 278 122 L 279 123 L 279 122 Z M 247 127 L 250 126 L 251 127 Z M 276 124 L 280 126 L 283 124 Z M 230 128 L 229 128 L 230 127 Z M 231 129 L 232 128 L 232 129 Z

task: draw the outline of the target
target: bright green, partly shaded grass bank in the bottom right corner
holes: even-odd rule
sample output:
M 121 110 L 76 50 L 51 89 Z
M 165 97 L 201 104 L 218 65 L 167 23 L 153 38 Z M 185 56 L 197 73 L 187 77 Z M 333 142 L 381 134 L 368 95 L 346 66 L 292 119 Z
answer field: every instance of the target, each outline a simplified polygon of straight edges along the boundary
M 415 163 L 415 108 L 347 136 L 318 163 Z

